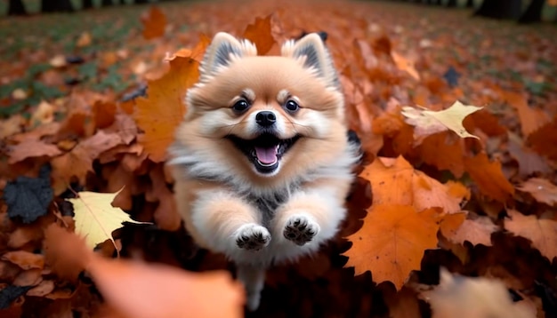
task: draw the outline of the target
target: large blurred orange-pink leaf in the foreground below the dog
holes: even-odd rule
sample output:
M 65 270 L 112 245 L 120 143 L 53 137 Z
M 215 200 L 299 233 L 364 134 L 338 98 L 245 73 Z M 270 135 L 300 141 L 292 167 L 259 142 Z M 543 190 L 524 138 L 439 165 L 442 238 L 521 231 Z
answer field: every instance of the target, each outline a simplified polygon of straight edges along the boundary
M 109 305 L 127 317 L 226 318 L 244 314 L 243 288 L 228 272 L 197 274 L 166 265 L 105 259 L 87 250 L 83 239 L 55 225 L 45 230 L 45 236 L 48 258 L 69 268 L 85 267 Z

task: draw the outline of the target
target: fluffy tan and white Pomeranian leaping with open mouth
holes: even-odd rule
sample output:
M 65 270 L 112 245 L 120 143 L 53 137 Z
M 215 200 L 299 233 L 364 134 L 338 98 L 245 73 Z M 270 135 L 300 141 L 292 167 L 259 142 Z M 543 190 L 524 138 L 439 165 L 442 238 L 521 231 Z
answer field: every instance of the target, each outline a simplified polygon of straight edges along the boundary
M 319 249 L 343 221 L 359 160 L 343 92 L 317 34 L 281 56 L 218 33 L 169 149 L 185 227 L 225 254 L 259 306 L 265 271 Z

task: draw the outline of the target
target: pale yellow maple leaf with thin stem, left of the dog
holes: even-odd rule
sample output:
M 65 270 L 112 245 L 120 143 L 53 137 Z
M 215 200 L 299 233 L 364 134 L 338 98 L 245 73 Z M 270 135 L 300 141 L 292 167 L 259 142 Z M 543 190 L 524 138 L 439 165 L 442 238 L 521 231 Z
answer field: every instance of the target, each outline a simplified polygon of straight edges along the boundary
M 122 222 L 136 224 L 149 224 L 138 222 L 120 208 L 113 207 L 110 203 L 114 201 L 117 193 L 101 194 L 83 191 L 75 199 L 66 199 L 74 205 L 76 219 L 76 233 L 85 237 L 87 247 L 93 248 L 101 242 L 109 239 L 117 248 L 112 238 L 112 232 L 123 227 Z

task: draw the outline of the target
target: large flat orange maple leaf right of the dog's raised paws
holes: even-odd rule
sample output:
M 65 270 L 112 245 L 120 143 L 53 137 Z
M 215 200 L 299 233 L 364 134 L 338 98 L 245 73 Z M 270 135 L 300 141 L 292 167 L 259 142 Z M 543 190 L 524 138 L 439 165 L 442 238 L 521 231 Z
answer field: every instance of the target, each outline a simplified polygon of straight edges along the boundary
M 346 266 L 355 274 L 371 271 L 375 282 L 390 281 L 400 290 L 408 274 L 420 269 L 424 250 L 437 248 L 439 211 L 416 212 L 411 205 L 372 205 L 364 225 L 347 237 Z

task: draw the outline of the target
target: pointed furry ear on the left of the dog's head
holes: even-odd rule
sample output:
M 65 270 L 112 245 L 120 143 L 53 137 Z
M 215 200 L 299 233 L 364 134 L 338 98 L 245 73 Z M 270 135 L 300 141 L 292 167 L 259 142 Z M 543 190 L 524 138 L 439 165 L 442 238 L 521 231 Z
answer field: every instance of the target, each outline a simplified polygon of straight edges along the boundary
M 219 32 L 213 37 L 203 57 L 200 68 L 202 80 L 218 74 L 234 60 L 255 55 L 257 49 L 248 40 L 238 41 L 228 33 Z

